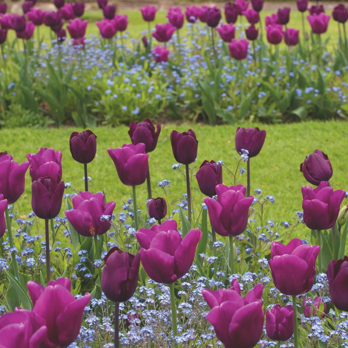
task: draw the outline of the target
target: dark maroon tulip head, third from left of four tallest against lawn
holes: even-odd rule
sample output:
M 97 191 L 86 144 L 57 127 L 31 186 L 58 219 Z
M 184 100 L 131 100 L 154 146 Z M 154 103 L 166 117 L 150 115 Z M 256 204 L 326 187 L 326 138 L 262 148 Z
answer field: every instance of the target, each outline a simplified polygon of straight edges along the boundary
M 195 161 L 198 141 L 196 139 L 196 133 L 192 129 L 183 133 L 172 130 L 171 143 L 173 155 L 179 163 L 190 164 Z

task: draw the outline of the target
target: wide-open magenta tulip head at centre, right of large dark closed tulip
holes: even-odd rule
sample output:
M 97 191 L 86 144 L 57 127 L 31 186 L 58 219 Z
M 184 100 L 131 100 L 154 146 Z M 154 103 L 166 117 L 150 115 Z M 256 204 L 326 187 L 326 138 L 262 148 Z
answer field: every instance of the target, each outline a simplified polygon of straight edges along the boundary
M 175 220 L 141 228 L 135 234 L 141 246 L 141 263 L 148 276 L 157 283 L 172 284 L 192 266 L 202 232 L 190 230 L 181 238 Z

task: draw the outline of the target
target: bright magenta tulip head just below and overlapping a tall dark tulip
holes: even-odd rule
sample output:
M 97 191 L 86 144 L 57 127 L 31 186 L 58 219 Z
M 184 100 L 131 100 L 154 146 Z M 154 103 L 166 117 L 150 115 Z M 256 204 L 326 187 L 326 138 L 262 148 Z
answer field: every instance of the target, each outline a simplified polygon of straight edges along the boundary
M 149 155 L 145 153 L 145 144 L 123 144 L 122 148 L 108 149 L 108 153 L 122 184 L 136 186 L 145 182 L 149 161 Z

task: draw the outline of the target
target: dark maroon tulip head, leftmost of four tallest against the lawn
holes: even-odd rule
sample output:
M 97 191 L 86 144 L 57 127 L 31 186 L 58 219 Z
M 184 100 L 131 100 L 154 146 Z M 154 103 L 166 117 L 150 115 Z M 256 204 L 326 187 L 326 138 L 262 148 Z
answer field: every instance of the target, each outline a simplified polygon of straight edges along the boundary
M 70 152 L 74 160 L 79 163 L 90 163 L 97 151 L 97 136 L 92 130 L 81 133 L 72 132 L 70 135 Z

